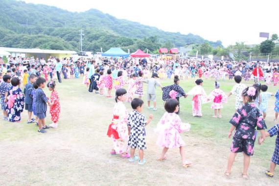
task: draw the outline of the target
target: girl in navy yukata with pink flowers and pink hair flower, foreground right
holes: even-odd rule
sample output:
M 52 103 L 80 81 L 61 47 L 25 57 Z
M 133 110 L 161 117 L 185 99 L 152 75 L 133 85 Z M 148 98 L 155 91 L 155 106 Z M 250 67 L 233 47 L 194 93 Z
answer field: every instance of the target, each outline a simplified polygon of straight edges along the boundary
M 242 172 L 243 178 L 248 178 L 248 168 L 250 157 L 254 154 L 254 144 L 256 140 L 256 131 L 260 131 L 261 137 L 265 139 L 266 129 L 265 122 L 256 105 L 253 103 L 258 96 L 258 91 L 255 87 L 247 87 L 242 92 L 243 106 L 238 108 L 233 115 L 230 123 L 232 124 L 229 130 L 229 138 L 232 132 L 235 133 L 232 138 L 231 154 L 228 159 L 228 166 L 225 172 L 226 176 L 230 176 L 232 164 L 237 153 L 243 152 L 244 167 Z

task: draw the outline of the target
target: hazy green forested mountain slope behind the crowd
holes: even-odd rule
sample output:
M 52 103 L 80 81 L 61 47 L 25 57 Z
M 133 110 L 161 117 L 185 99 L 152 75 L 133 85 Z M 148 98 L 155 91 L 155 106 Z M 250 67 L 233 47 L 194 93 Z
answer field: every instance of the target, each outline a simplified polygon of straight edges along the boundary
M 204 42 L 213 47 L 222 46 L 220 41 L 207 41 L 193 34 L 165 32 L 156 27 L 117 19 L 96 9 L 77 13 L 16 0 L 0 0 L 0 4 L 3 10 L 0 16 L 0 45 L 5 47 L 32 46 L 77 51 L 81 28 L 85 33 L 83 48 L 93 52 L 99 51 L 100 47 L 107 50 L 113 46 L 132 51 L 137 48 L 155 51 L 164 43 L 172 43 L 176 47 Z

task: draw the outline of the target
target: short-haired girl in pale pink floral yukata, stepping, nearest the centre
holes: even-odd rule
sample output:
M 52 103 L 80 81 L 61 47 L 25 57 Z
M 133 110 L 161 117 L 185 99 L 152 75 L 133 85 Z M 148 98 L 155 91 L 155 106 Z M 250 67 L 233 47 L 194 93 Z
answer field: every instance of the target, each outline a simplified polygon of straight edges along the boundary
M 179 102 L 176 99 L 166 101 L 164 108 L 166 112 L 157 125 L 156 132 L 159 133 L 157 145 L 163 147 L 162 154 L 158 161 L 166 160 L 165 154 L 169 148 L 179 148 L 184 167 L 192 163 L 186 160 L 184 152 L 185 142 L 179 133 L 190 131 L 190 124 L 182 123 L 180 117 L 175 113 L 179 110 Z

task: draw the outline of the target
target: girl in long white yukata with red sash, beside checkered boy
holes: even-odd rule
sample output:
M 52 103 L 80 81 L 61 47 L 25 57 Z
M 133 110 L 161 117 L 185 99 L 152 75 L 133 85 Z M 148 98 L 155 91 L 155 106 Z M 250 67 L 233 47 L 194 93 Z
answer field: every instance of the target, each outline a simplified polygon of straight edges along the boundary
M 123 104 L 127 100 L 127 91 L 124 88 L 116 90 L 116 105 L 114 116 L 107 135 L 113 139 L 111 155 L 121 154 L 123 158 L 130 158 L 128 154 L 128 111 Z

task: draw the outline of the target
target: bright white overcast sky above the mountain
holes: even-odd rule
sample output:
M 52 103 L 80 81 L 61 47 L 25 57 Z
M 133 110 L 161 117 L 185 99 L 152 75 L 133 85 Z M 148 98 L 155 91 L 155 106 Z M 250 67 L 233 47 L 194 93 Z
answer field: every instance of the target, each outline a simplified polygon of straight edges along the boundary
M 258 44 L 259 32 L 279 34 L 279 0 L 24 0 L 82 12 L 91 8 L 116 18 L 221 40 Z

